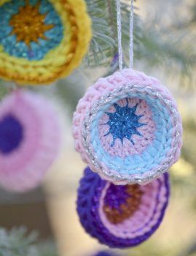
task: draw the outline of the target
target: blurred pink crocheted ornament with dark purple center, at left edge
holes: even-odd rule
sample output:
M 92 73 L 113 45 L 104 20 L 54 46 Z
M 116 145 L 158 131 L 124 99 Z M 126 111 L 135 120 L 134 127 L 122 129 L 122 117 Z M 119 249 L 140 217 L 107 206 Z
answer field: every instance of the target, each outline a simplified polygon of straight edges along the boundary
M 47 99 L 14 91 L 0 105 L 0 186 L 36 187 L 60 150 L 58 113 Z

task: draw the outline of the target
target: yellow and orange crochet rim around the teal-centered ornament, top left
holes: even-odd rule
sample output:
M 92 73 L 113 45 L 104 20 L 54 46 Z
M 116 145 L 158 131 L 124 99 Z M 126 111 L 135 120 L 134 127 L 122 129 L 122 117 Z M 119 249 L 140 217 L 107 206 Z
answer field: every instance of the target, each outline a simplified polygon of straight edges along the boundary
M 0 7 L 6 1 L 0 0 Z M 13 80 L 20 85 L 52 83 L 69 75 L 82 61 L 87 52 L 91 33 L 91 21 L 83 0 L 51 1 L 58 6 L 58 15 L 66 19 L 66 42 L 55 48 L 51 58 L 42 61 L 28 61 L 0 52 L 0 77 Z M 59 12 L 60 10 L 60 12 Z M 66 17 L 66 18 L 65 18 Z

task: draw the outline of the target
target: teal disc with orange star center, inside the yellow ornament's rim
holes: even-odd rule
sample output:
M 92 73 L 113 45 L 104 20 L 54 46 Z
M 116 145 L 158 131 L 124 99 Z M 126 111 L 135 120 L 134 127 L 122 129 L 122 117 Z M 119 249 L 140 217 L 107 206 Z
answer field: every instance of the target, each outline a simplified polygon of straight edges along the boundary
M 0 44 L 9 56 L 38 61 L 63 39 L 63 23 L 48 0 L 7 1 L 0 17 Z

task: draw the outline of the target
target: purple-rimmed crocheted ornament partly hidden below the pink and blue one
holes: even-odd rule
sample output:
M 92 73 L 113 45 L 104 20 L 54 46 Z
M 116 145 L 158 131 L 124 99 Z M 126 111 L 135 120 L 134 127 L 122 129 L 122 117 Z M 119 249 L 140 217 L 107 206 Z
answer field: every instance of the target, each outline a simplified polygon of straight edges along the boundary
M 146 185 L 116 186 L 87 167 L 78 189 L 80 222 L 101 244 L 136 246 L 160 226 L 169 190 L 168 173 Z

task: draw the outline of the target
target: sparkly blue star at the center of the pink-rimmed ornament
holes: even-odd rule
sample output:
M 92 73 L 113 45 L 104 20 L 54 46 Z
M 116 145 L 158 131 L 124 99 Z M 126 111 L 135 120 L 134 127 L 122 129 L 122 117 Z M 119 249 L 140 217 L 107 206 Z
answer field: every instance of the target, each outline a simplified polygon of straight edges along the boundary
M 113 142 L 111 143 L 111 146 L 114 146 L 115 140 L 117 139 L 121 140 L 123 144 L 123 138 L 127 138 L 134 145 L 135 143 L 132 140 L 132 135 L 142 136 L 141 133 L 138 132 L 137 128 L 146 125 L 139 122 L 139 119 L 144 115 L 136 115 L 138 104 L 133 108 L 130 108 L 128 105 L 128 99 L 126 99 L 126 101 L 127 105 L 125 105 L 125 107 L 120 107 L 117 103 L 114 103 L 116 112 L 106 112 L 109 116 L 109 121 L 106 123 L 109 125 L 109 132 L 104 136 L 109 134 L 112 135 Z

